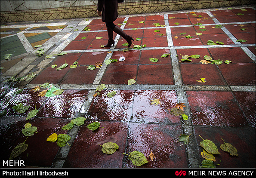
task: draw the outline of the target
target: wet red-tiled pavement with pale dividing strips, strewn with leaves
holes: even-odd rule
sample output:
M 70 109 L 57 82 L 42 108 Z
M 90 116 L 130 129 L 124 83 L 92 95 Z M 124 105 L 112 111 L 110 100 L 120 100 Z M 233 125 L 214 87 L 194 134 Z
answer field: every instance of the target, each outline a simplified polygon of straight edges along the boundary
M 100 18 L 1 24 L 1 113 L 7 111 L 1 117 L 2 160 L 9 160 L 12 150 L 26 140 L 21 130 L 28 113 L 37 109 L 29 122 L 38 133 L 27 138 L 28 148 L 14 158 L 24 160 L 27 167 L 198 168 L 204 160 L 200 146 L 204 138 L 218 147 L 217 168 L 255 168 L 255 6 L 120 16 L 114 23 L 141 39 L 134 45 L 146 47 L 133 49 L 132 45 L 124 52 L 126 41 L 114 33 L 116 46 L 101 48 L 108 35 Z M 86 27 L 90 31 L 84 31 Z M 224 44 L 207 45 L 208 40 Z M 37 56 L 39 49 L 44 55 Z M 12 54 L 11 58 L 4 59 L 5 54 Z M 169 55 L 163 58 L 163 54 Z M 182 55 L 200 58 L 182 61 Z M 202 64 L 205 55 L 223 63 Z M 125 61 L 87 69 L 122 56 Z M 77 68 L 70 68 L 75 61 Z M 52 68 L 65 63 L 68 67 L 60 71 Z M 31 80 L 3 82 L 31 72 L 37 74 Z M 206 82 L 198 82 L 201 78 Z M 136 83 L 128 85 L 130 79 Z M 43 83 L 64 92 L 39 97 L 43 89 L 31 89 Z M 94 97 L 100 84 L 105 89 Z M 24 90 L 15 94 L 18 89 Z M 117 93 L 109 98 L 112 91 Z M 160 104 L 151 104 L 154 98 Z M 180 102 L 188 120 L 170 114 Z M 29 110 L 15 112 L 12 107 L 19 103 Z M 77 117 L 85 117 L 85 123 L 62 129 Z M 101 127 L 90 131 L 86 126 L 93 122 Z M 46 141 L 52 133 L 70 135 L 71 146 Z M 179 142 L 182 134 L 189 135 L 188 144 Z M 239 157 L 220 149 L 222 139 L 237 149 Z M 105 154 L 99 144 L 106 142 L 119 148 Z M 134 150 L 143 153 L 148 163 L 134 166 L 123 154 Z

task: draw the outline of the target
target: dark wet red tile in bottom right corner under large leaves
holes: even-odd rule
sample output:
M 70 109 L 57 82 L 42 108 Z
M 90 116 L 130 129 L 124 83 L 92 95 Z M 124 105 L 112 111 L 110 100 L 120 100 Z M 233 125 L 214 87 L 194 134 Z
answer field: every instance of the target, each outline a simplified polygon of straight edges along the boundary
M 254 168 L 255 169 L 255 129 L 242 127 L 242 128 L 231 128 L 231 127 L 195 127 L 195 135 L 197 143 L 205 140 L 213 141 L 217 146 L 220 154 L 214 154 L 216 162 L 213 164 L 217 165 L 216 168 Z M 200 137 L 200 136 L 201 137 Z M 229 143 L 237 149 L 238 157 L 231 156 L 228 152 L 220 149 L 220 145 Z M 199 154 L 201 160 L 202 147 L 199 146 Z M 252 154 L 253 153 L 253 154 Z M 250 155 L 250 156 L 249 156 Z

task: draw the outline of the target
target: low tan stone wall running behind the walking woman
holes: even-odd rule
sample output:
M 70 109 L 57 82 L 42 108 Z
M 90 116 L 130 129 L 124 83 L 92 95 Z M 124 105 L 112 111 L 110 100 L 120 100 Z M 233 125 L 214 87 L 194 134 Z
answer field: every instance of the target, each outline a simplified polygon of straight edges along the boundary
M 23 3 L 22 3 L 23 2 Z M 30 2 L 30 3 L 29 3 Z M 40 3 L 42 4 L 40 4 Z M 9 3 L 9 4 L 8 4 Z M 13 5 L 22 3 L 21 5 Z M 98 17 L 97 1 L 25 1 L 1 0 L 1 22 L 40 21 L 65 18 Z M 37 6 L 34 5 L 38 3 Z M 53 4 L 53 5 L 51 5 Z M 118 4 L 119 15 L 169 12 L 188 9 L 219 8 L 255 4 L 253 0 L 127 0 Z M 12 7 L 14 6 L 14 7 Z M 17 7 L 15 7 L 17 6 Z M 49 8 L 52 7 L 52 8 Z M 32 9 L 31 9 L 32 8 Z M 35 9 L 37 8 L 37 9 Z M 12 9 L 12 10 L 11 10 Z M 6 11 L 5 11 L 6 10 Z M 8 10 L 8 11 L 7 11 Z

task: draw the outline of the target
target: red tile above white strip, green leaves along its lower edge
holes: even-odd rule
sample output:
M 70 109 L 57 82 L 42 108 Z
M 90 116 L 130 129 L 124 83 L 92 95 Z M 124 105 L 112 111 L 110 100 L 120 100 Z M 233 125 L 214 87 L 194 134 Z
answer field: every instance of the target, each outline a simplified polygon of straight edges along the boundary
M 204 34 L 199 36 L 204 45 L 207 45 L 208 40 L 212 40 L 214 43 L 220 41 L 227 44 L 234 44 L 234 42 L 226 34 Z M 220 45 L 220 44 L 217 44 Z

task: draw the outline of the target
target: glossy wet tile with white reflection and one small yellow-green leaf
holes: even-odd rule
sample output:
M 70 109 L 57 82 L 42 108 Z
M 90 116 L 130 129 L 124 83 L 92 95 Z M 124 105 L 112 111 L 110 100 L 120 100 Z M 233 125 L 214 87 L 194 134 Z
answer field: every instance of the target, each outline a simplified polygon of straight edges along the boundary
M 154 98 L 160 104 L 151 104 Z M 171 115 L 168 109 L 175 107 L 177 95 L 175 91 L 139 90 L 135 92 L 133 101 L 133 119 L 131 122 L 145 123 L 180 123 L 180 117 Z

